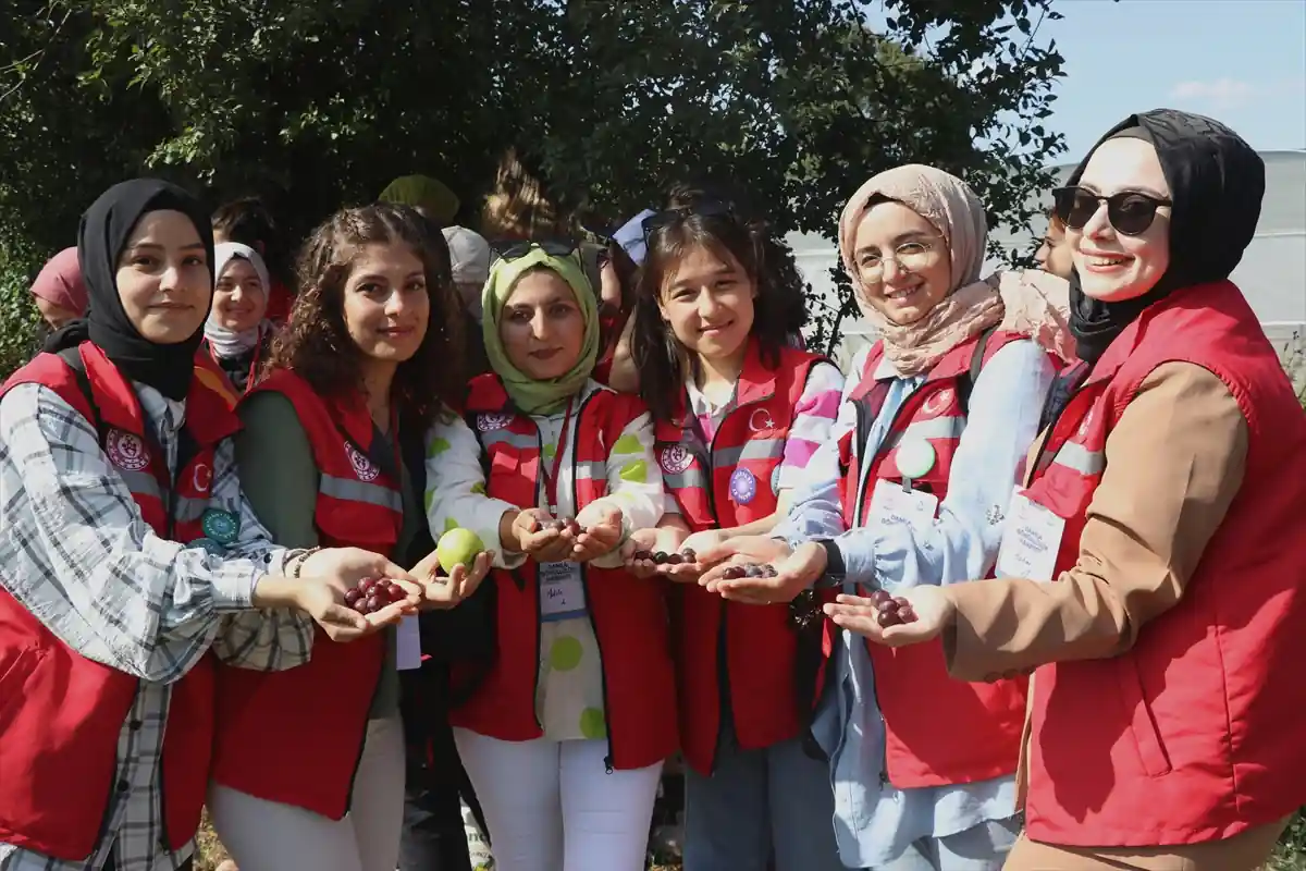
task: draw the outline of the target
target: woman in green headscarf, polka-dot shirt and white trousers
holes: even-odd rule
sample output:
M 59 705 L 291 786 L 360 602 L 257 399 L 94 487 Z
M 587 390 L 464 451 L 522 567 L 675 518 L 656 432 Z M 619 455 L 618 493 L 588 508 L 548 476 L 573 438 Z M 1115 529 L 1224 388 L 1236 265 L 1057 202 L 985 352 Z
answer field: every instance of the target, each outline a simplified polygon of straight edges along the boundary
M 677 747 L 666 609 L 622 568 L 662 516 L 643 402 L 596 383 L 596 295 L 573 251 L 500 252 L 482 294 L 494 368 L 427 445 L 432 534 L 496 558 L 495 650 L 449 717 L 503 871 L 643 868 Z

